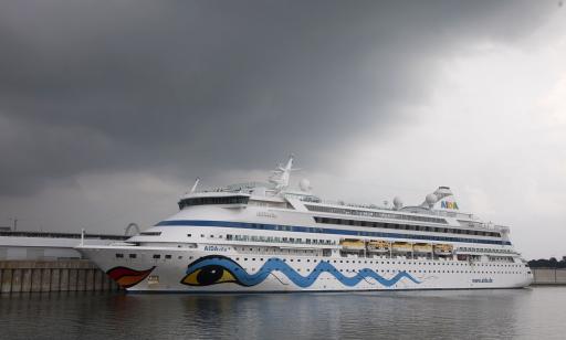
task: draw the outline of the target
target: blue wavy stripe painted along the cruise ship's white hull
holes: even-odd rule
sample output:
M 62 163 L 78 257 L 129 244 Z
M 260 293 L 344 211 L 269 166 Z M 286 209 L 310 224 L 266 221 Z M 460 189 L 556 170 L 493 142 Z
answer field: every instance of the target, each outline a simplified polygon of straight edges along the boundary
M 326 261 L 319 262 L 307 276 L 302 276 L 281 258 L 276 257 L 268 259 L 268 262 L 256 273 L 249 274 L 234 261 L 218 255 L 206 256 L 196 261 L 188 266 L 187 275 L 190 275 L 196 270 L 207 266 L 220 266 L 223 269 L 229 270 L 237 279 L 237 284 L 248 287 L 261 284 L 272 272 L 275 270 L 284 274 L 293 284 L 301 288 L 307 288 L 312 286 L 318 276 L 321 276 L 323 273 L 332 274 L 339 283 L 347 287 L 354 287 L 367 278 L 374 278 L 385 287 L 390 287 L 403 278 L 407 278 L 417 285 L 421 283 L 409 275 L 407 272 L 399 272 L 391 278 L 385 278 L 369 268 L 363 268 L 358 270 L 356 275 L 348 277 L 343 275 L 338 269 L 336 269 Z

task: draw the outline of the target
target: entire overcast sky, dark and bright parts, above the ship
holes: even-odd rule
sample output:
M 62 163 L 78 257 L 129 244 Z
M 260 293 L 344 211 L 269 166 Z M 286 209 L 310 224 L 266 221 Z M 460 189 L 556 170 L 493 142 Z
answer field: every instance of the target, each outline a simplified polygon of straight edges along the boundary
M 315 192 L 459 206 L 566 255 L 562 1 L 0 2 L 0 225 L 123 233 L 294 152 Z

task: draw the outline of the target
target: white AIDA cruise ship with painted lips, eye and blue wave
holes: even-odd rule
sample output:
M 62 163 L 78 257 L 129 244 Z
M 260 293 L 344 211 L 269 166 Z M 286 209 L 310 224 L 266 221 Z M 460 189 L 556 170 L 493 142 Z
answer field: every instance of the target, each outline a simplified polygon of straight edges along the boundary
M 111 245 L 76 247 L 128 291 L 258 293 L 521 288 L 533 275 L 510 229 L 460 212 L 448 187 L 419 205 L 322 200 L 268 182 L 200 190 L 179 212 Z M 388 206 L 390 205 L 390 206 Z

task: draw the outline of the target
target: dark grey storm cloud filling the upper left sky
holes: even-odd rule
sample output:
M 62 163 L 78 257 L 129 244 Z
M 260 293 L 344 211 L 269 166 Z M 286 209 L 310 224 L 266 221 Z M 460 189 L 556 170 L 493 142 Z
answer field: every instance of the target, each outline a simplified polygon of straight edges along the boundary
M 85 171 L 316 162 L 542 1 L 3 1 L 0 194 Z M 381 129 L 380 129 L 381 127 Z M 306 164 L 308 166 L 308 163 Z

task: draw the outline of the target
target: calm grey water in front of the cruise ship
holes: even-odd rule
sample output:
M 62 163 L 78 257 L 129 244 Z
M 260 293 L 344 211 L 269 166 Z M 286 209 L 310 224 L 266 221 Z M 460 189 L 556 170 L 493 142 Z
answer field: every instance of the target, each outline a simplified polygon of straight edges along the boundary
M 566 287 L 0 296 L 2 339 L 566 339 Z

